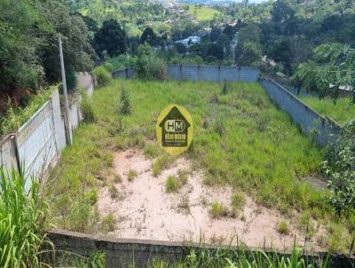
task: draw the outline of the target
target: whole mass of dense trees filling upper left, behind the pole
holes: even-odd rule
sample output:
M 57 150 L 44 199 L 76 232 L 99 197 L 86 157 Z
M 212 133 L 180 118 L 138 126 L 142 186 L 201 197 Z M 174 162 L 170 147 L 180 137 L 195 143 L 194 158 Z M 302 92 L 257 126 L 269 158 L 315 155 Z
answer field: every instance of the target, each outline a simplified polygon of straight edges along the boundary
M 67 84 L 73 88 L 74 72 L 92 67 L 93 51 L 82 17 L 70 14 L 59 1 L 0 1 L 0 101 L 8 95 L 15 105 L 26 105 L 30 91 L 60 81 L 59 35 Z

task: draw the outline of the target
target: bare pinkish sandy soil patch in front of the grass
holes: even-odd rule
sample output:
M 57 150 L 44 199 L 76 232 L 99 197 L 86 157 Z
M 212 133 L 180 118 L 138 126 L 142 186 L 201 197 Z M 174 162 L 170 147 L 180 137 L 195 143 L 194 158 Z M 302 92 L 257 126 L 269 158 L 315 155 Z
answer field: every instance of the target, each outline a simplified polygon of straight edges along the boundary
M 230 187 L 210 187 L 201 182 L 201 173 L 193 172 L 187 184 L 178 193 L 166 193 L 165 181 L 176 175 L 177 169 L 188 169 L 189 163 L 180 158 L 162 175 L 153 177 L 151 160 L 141 151 L 127 150 L 114 154 L 114 171 L 122 176 L 122 182 L 114 184 L 120 198 L 112 199 L 107 187 L 99 192 L 99 213 L 104 217 L 114 213 L 113 235 L 120 238 L 170 241 L 204 241 L 213 244 L 237 244 L 240 241 L 249 247 L 289 248 L 295 236 L 300 246 L 304 235 L 296 229 L 296 219 L 282 217 L 278 210 L 260 207 L 250 197 L 239 217 L 210 216 L 210 203 L 218 201 L 231 207 Z M 133 181 L 127 180 L 130 169 L 138 172 Z M 188 204 L 188 206 L 186 206 Z M 288 235 L 281 235 L 277 226 L 285 220 L 290 227 Z M 317 235 L 308 242 L 308 248 L 319 250 Z

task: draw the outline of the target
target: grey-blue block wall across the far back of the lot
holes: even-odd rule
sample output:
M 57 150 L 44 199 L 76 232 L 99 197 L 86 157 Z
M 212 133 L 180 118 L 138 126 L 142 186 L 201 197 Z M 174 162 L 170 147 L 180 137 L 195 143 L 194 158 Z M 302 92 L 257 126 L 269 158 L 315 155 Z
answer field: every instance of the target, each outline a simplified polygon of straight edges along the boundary
M 210 82 L 256 82 L 260 71 L 257 67 L 167 65 L 167 73 L 172 80 Z M 117 70 L 114 78 L 131 78 L 134 67 Z

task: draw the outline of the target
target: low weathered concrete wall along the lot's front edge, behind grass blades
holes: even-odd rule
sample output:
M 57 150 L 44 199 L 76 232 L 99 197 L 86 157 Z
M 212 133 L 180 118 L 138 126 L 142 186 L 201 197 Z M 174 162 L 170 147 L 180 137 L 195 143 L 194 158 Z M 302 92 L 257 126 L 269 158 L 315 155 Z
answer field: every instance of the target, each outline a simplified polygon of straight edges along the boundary
M 132 240 L 132 239 L 113 239 L 104 236 L 96 236 L 87 233 L 75 233 L 63 230 L 51 230 L 48 238 L 52 241 L 58 251 L 52 262 L 60 256 L 60 252 L 68 251 L 80 256 L 89 256 L 93 251 L 106 253 L 106 267 L 147 267 L 147 264 L 154 258 L 164 259 L 170 264 L 186 256 L 190 248 L 206 248 L 210 251 L 216 250 L 216 246 L 199 245 L 186 242 L 170 242 L 159 240 Z M 227 248 L 227 247 L 225 247 Z M 237 247 L 234 250 L 240 250 Z M 250 248 L 249 251 L 256 251 L 257 248 Z M 273 252 L 265 249 L 265 252 Z M 288 252 L 280 252 L 280 256 L 288 256 Z M 319 257 L 325 258 L 326 252 L 317 252 L 307 255 L 308 259 L 318 260 Z M 351 267 L 355 264 L 355 259 L 344 255 L 330 256 L 329 267 Z

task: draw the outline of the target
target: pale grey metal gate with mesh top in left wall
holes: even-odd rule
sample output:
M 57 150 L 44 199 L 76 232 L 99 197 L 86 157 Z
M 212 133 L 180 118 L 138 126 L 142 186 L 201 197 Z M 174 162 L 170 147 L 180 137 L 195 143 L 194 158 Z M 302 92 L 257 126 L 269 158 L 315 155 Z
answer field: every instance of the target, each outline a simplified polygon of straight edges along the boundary
M 51 162 L 57 157 L 51 101 L 47 101 L 28 122 L 20 127 L 16 142 L 28 189 L 30 177 L 42 178 Z

